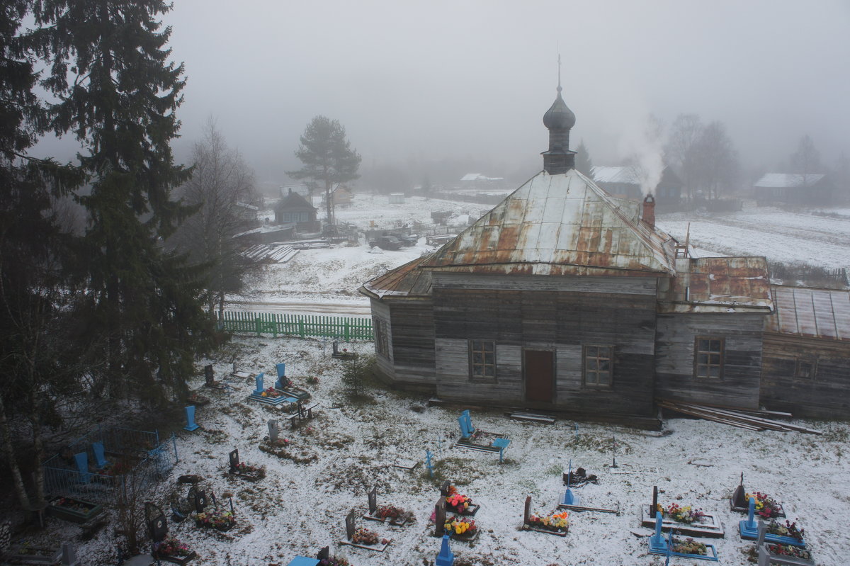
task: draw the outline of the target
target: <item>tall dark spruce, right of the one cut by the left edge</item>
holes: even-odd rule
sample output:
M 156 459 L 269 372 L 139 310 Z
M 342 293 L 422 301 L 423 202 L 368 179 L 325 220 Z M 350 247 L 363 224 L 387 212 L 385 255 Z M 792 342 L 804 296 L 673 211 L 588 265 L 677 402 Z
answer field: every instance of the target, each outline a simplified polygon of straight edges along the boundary
M 56 133 L 75 133 L 91 190 L 77 190 L 88 228 L 73 283 L 85 291 L 82 340 L 105 337 L 96 387 L 150 401 L 184 397 L 196 351 L 211 342 L 201 272 L 161 244 L 189 207 L 171 191 L 189 172 L 170 142 L 183 65 L 168 61 L 160 0 L 36 0 L 32 45 L 48 61 L 43 85 L 60 100 Z M 70 79 L 70 80 L 69 80 Z M 130 386 L 133 386 L 131 388 Z M 130 545 L 134 546 L 133 544 Z

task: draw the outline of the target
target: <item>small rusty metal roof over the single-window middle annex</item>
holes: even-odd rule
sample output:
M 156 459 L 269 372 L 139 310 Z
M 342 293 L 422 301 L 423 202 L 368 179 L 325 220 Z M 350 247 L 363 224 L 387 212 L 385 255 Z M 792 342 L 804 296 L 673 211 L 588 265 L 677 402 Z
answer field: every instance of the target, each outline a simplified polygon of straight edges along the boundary
M 662 312 L 770 312 L 766 258 L 680 258 L 677 277 L 660 292 Z

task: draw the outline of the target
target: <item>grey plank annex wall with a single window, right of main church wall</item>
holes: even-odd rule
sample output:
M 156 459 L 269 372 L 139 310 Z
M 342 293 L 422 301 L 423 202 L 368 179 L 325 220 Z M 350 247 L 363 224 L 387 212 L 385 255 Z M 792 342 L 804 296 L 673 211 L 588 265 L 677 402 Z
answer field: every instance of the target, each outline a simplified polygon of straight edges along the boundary
M 764 314 L 660 314 L 655 396 L 706 405 L 757 409 Z M 694 338 L 723 337 L 723 377 L 694 377 Z

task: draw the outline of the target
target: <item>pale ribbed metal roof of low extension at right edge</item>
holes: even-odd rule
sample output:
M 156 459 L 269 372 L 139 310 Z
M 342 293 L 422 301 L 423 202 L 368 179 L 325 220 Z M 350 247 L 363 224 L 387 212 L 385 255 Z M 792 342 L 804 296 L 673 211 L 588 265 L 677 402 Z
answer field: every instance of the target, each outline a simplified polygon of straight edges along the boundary
M 850 341 L 850 291 L 771 286 L 775 312 L 766 330 Z

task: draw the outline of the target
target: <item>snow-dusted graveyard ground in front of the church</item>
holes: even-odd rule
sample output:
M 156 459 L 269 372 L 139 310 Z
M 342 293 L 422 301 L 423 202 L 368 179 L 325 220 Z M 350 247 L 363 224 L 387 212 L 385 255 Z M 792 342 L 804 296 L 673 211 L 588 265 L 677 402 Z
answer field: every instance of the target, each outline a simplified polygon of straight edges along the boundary
M 347 345 L 361 354 L 371 343 Z M 475 516 L 482 533 L 472 546 L 453 542 L 457 558 L 484 565 L 507 564 L 661 564 L 647 552 L 649 529 L 640 526 L 639 507 L 649 504 L 652 488 L 661 490 L 660 502 L 693 505 L 723 523 L 726 535 L 711 540 L 723 564 L 747 563 L 753 546 L 741 541 L 741 515 L 729 511 L 728 495 L 744 473 L 745 486 L 774 495 L 791 520 L 806 529 L 806 539 L 817 562 L 844 564 L 850 521 L 850 465 L 847 463 L 850 427 L 844 423 L 798 422 L 825 434 L 752 433 L 713 422 L 671 420 L 665 433 L 645 433 L 624 427 L 559 421 L 554 425 L 515 422 L 501 413 L 473 410 L 473 425 L 507 434 L 512 440 L 506 462 L 498 456 L 451 448 L 458 437 L 459 410 L 427 407 L 426 399 L 371 389 L 374 402 L 351 404 L 340 384 L 343 364 L 330 358 L 330 348 L 314 340 L 238 338 L 214 360 L 216 375 L 226 375 L 231 359 L 240 369 L 274 374 L 274 364 L 286 361 L 287 375 L 308 388 L 320 404 L 312 422 L 282 436 L 292 451 L 315 455 L 316 461 L 297 464 L 258 450 L 267 434 L 266 421 L 278 410 L 246 401 L 253 380 L 235 382 L 235 393 L 204 390 L 212 404 L 196 416 L 204 427 L 194 433 L 178 430 L 180 461 L 167 479 L 168 495 L 184 496 L 180 474 L 200 474 L 203 486 L 221 499 L 234 494 L 238 527 L 226 534 L 197 529 L 191 521 L 170 524 L 171 533 L 199 553 L 198 564 L 286 565 L 297 554 L 314 555 L 330 545 L 354 566 L 419 566 L 432 564 L 439 540 L 429 533 L 428 518 L 439 495 L 439 481 L 428 477 L 422 463 L 406 472 L 394 461 L 420 461 L 432 450 L 437 473 L 460 484 L 462 493 L 481 506 Z M 308 376 L 319 376 L 307 385 Z M 198 377 L 193 387 L 201 386 Z M 617 472 L 612 461 L 616 439 Z M 267 468 L 256 484 L 226 477 L 227 455 L 238 448 L 242 461 Z M 613 507 L 619 516 L 598 512 L 570 512 L 566 538 L 522 532 L 523 503 L 532 496 L 532 512 L 553 512 L 563 495 L 561 473 L 568 462 L 599 476 L 599 483 L 575 493 L 583 505 Z M 377 485 L 378 504 L 414 512 L 416 523 L 390 527 L 360 519 L 367 508 L 366 491 Z M 340 546 L 345 536 L 343 518 L 358 512 L 357 524 L 392 539 L 386 552 Z M 637 533 L 637 534 L 636 534 Z M 84 564 L 111 563 L 111 534 L 102 532 L 83 551 Z M 423 562 L 425 559 L 427 562 Z M 672 563 L 694 561 L 674 559 Z

